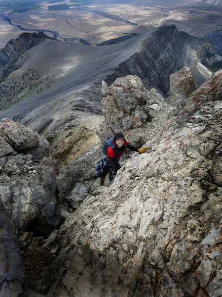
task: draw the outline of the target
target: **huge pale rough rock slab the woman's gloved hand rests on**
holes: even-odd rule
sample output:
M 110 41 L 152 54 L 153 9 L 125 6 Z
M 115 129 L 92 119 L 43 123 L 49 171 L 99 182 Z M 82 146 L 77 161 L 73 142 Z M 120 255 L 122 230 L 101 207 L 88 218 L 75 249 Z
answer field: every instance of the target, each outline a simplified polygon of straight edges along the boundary
M 221 89 L 222 72 L 65 221 L 48 297 L 221 296 Z

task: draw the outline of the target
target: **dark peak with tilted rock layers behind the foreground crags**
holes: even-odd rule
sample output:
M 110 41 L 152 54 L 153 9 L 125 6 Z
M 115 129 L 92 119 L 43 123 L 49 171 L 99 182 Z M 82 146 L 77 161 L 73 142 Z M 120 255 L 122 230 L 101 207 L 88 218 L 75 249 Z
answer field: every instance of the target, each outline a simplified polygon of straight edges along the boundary
M 146 88 L 157 88 L 169 96 L 172 73 L 184 67 L 190 67 L 196 73 L 197 62 L 204 62 L 209 52 L 217 54 L 206 39 L 179 32 L 175 25 L 155 30 L 142 42 L 142 47 L 141 51 L 119 64 L 105 81 L 111 84 L 117 77 L 137 75 Z

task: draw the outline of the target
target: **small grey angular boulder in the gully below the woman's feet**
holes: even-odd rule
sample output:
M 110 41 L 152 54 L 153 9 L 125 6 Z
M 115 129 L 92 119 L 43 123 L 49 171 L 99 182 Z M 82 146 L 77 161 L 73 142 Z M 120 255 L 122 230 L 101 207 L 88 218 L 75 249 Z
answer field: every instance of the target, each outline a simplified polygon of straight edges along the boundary
M 70 196 L 67 196 L 66 199 L 70 202 L 73 208 L 77 209 L 87 195 L 87 187 L 80 183 L 77 183 Z

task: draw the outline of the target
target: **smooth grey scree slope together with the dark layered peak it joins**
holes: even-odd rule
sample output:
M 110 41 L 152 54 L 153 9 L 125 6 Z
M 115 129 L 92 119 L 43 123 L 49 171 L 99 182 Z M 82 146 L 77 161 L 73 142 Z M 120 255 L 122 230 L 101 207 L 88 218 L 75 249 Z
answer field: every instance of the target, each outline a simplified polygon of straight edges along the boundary
M 154 30 L 152 35 L 151 33 L 152 31 L 109 47 L 86 47 L 50 40 L 35 47 L 32 49 L 32 58 L 18 73 L 32 68 L 32 65 L 40 67 L 37 68 L 41 73 L 36 91 L 31 90 L 32 93 L 39 94 L 26 98 L 7 112 L 0 112 L 0 117 L 13 118 L 16 115 L 16 119 L 21 120 L 34 108 L 54 99 L 64 98 L 69 92 L 105 79 L 106 76 L 108 83 L 111 83 L 117 76 L 136 74 L 142 78 L 146 87 L 155 86 L 167 95 L 170 74 L 184 66 L 190 66 L 201 83 L 201 75 L 195 67 L 197 62 L 202 60 L 204 53 L 209 51 L 208 44 L 178 32 L 175 26 L 163 26 Z M 55 47 L 57 51 L 54 50 Z M 62 54 L 66 50 L 67 56 L 64 57 Z M 214 49 L 210 51 L 215 52 Z M 51 52 L 54 52 L 53 55 Z M 127 60 L 128 57 L 130 58 Z M 111 73 L 113 68 L 115 71 Z M 12 78 L 13 75 L 8 78 L 10 85 Z M 50 90 L 45 91 L 46 88 Z M 28 94 L 25 93 L 24 96 Z

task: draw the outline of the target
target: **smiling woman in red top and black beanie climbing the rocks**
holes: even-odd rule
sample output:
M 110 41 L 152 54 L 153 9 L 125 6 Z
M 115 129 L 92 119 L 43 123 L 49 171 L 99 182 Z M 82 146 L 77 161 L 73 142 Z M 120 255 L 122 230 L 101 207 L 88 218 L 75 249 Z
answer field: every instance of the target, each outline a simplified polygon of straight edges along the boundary
M 109 141 L 107 142 L 109 144 Z M 116 175 L 116 172 L 121 168 L 119 165 L 119 159 L 122 156 L 123 152 L 126 152 L 126 148 L 137 151 L 140 154 L 147 151 L 148 147 L 141 149 L 135 148 L 129 144 L 122 133 L 116 133 L 113 140 L 109 144 L 108 148 L 103 148 L 103 151 L 106 152 L 106 155 L 97 163 L 95 178 L 100 177 L 100 185 L 104 185 L 106 176 L 109 174 L 110 181 Z

